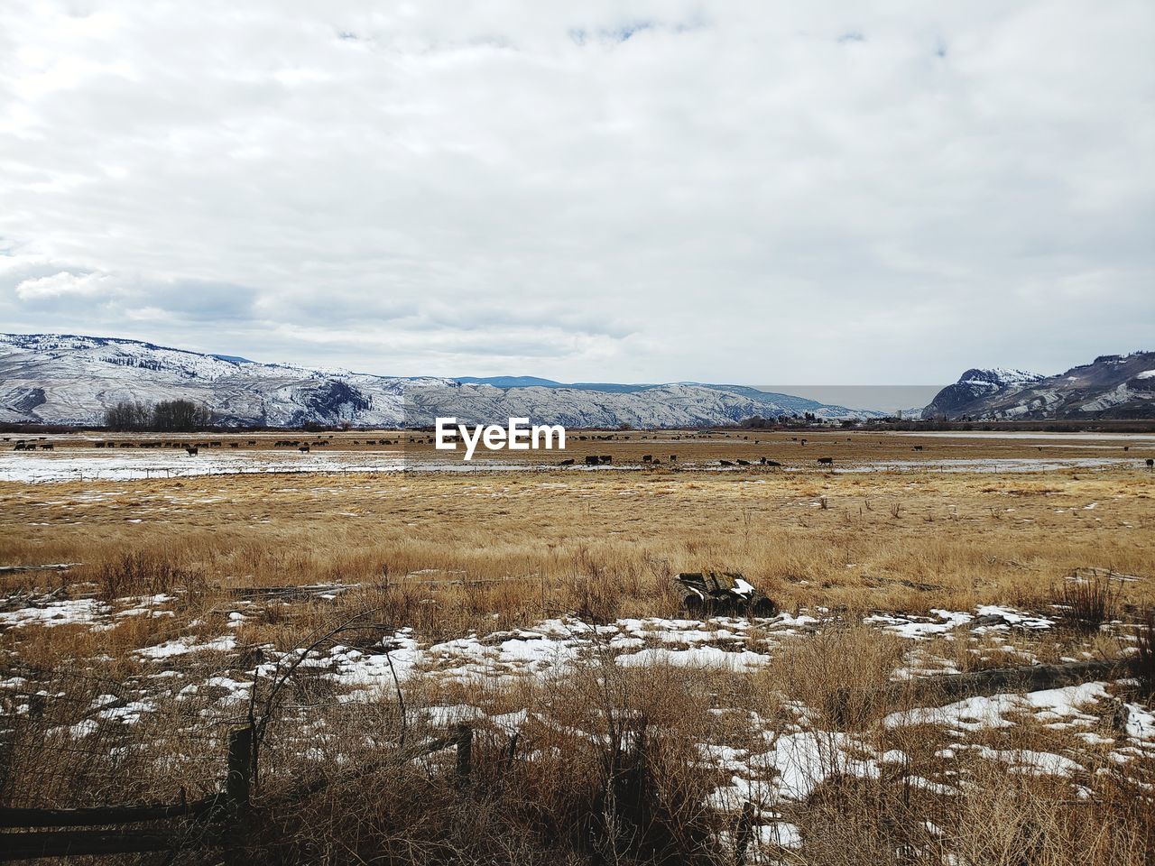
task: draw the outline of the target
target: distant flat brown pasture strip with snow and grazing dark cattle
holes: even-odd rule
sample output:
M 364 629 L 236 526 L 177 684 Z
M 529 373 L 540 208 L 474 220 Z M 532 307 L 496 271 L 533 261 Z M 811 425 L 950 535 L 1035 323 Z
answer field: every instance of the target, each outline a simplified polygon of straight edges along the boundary
M 25 450 L 29 445 L 33 449 Z M 51 445 L 51 450 L 43 446 Z M 196 455 L 186 446 L 198 446 Z M 307 446 L 307 451 L 301 448 Z M 18 449 L 18 450 L 17 450 Z M 1142 469 L 1155 434 L 571 431 L 566 448 L 438 450 L 431 434 L 403 431 L 280 434 L 9 435 L 0 442 L 0 481 L 60 481 L 260 472 L 614 471 L 1033 472 Z M 819 465 L 829 458 L 828 466 Z M 780 464 L 775 466 L 774 464 Z M 750 464 L 750 465 L 745 465 Z

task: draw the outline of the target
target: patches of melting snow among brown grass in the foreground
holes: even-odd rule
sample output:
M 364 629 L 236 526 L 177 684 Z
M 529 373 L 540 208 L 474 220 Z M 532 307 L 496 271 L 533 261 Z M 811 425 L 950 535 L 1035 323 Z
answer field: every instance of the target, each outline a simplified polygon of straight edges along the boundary
M 177 604 L 179 599 L 172 596 L 112 603 L 45 599 L 10 605 L 0 613 L 0 628 L 74 625 L 107 629 L 125 617 L 171 615 Z M 476 702 L 423 704 L 410 700 L 410 722 L 432 729 L 464 722 L 502 737 L 516 732 L 528 744 L 545 734 L 551 742 L 558 737 L 597 742 L 606 734 L 596 724 L 589 730 L 575 729 L 534 702 L 511 709 L 511 696 L 516 701 L 517 695 L 532 694 L 523 687 L 528 682 L 549 684 L 588 665 L 599 665 L 605 672 L 602 677 L 665 665 L 723 678 L 751 674 L 768 665 L 785 642 L 806 640 L 835 622 L 824 610 L 762 619 L 623 618 L 599 626 L 566 617 L 530 628 L 448 641 L 423 640 L 400 629 L 357 645 L 327 644 L 312 652 L 297 649 L 282 654 L 262 647 L 254 664 L 254 648 L 240 644 L 237 629 L 260 610 L 252 602 L 236 602 L 233 610 L 221 612 L 225 614 L 224 634 L 206 635 L 203 626 L 194 632 L 196 624 L 191 624 L 187 634 L 136 650 L 143 672 L 126 684 L 128 694 L 99 695 L 81 722 L 61 725 L 50 736 L 62 744 L 82 745 L 100 732 L 102 725 L 147 722 L 165 697 L 178 703 L 200 702 L 198 714 L 209 723 L 241 717 L 254 682 L 259 688 L 260 684 L 267 686 L 297 664 L 301 674 L 331 684 L 336 706 L 392 704 L 397 688 L 420 694 L 423 684 L 435 684 L 442 694 L 457 686 L 457 694 L 472 695 Z M 955 672 L 952 659 L 936 655 L 944 641 L 961 642 L 966 652 L 979 658 L 1012 650 L 1020 663 L 1030 664 L 1037 660 L 1030 651 L 1037 644 L 1031 642 L 1055 626 L 1045 613 L 992 605 L 973 611 L 936 610 L 925 617 L 874 614 L 863 621 L 906 641 L 906 665 L 894 672 L 895 680 Z M 0 680 L 0 694 L 24 693 L 29 685 L 22 677 L 8 677 Z M 795 848 L 802 841 L 787 820 L 790 811 L 834 776 L 877 778 L 902 769 L 914 774 L 909 777 L 914 789 L 951 797 L 967 785 L 964 767 L 997 763 L 1013 774 L 1053 777 L 1070 785 L 1072 797 L 1087 797 L 1089 775 L 1126 774 L 1134 761 L 1155 757 L 1155 715 L 1126 697 L 1120 700 L 1119 695 L 1127 694 L 1125 687 L 1125 682 L 1086 682 L 889 712 L 879 725 L 882 737 L 930 729 L 941 741 L 931 766 L 922 764 L 917 772 L 911 769 L 911 755 L 893 742 L 862 732 L 828 730 L 815 722 L 822 718 L 820 711 L 787 695 L 781 695 L 773 718 L 717 704 L 710 710 L 718 721 L 716 736 L 695 746 L 702 771 L 716 779 L 709 805 L 731 814 L 752 802 L 758 838 L 765 837 L 770 848 Z M 502 695 L 500 702 L 486 703 L 485 696 L 495 694 Z M 29 704 L 17 702 L 15 711 L 28 712 Z M 1110 718 L 1113 725 L 1105 721 Z M 1031 741 L 1034 748 L 996 746 L 989 739 L 992 733 L 1028 723 L 1043 732 L 1042 739 Z M 301 733 L 307 737 L 307 729 L 301 727 Z M 529 756 L 532 760 L 532 752 Z

